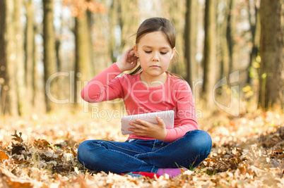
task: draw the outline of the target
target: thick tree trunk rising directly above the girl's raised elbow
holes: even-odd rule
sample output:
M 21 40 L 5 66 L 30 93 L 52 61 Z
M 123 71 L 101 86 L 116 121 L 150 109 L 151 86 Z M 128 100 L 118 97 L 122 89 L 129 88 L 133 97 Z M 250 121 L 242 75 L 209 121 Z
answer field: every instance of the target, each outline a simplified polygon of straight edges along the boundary
M 82 15 L 75 18 L 76 62 L 75 62 L 75 105 L 82 101 L 80 92 L 90 77 L 90 32 L 88 31 L 88 17 L 82 10 Z M 85 81 L 85 82 L 84 82 Z

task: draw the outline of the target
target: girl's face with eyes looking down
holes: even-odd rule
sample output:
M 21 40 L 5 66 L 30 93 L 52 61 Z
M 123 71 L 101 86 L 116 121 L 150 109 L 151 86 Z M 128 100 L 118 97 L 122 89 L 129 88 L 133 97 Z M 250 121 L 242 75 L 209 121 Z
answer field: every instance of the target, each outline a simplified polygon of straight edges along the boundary
M 143 70 L 142 74 L 149 79 L 166 76 L 165 71 L 169 68 L 174 51 L 175 48 L 171 48 L 161 31 L 144 35 L 134 46 L 135 55 L 139 58 Z

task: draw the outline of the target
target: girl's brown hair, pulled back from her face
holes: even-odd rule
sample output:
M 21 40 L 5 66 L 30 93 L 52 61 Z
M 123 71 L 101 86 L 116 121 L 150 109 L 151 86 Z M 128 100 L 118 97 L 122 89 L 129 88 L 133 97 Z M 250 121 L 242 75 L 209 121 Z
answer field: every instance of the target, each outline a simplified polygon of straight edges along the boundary
M 149 32 L 157 32 L 161 31 L 164 33 L 167 38 L 167 42 L 169 42 L 170 47 L 173 49 L 175 47 L 175 30 L 169 20 L 166 18 L 148 18 L 141 23 L 136 32 L 136 44 L 138 44 L 141 37 L 148 34 Z M 141 70 L 141 65 L 134 70 L 134 72 L 129 75 L 135 75 Z

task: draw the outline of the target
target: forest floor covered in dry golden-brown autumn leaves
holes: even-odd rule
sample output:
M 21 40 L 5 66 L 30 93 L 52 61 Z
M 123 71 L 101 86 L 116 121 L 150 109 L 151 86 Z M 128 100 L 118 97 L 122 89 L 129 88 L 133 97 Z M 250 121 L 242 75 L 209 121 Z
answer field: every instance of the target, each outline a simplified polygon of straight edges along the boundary
M 199 128 L 213 139 L 211 154 L 174 179 L 84 169 L 76 158 L 83 140 L 126 139 L 118 119 L 87 116 L 0 118 L 0 187 L 283 187 L 283 114 L 215 113 L 199 119 Z

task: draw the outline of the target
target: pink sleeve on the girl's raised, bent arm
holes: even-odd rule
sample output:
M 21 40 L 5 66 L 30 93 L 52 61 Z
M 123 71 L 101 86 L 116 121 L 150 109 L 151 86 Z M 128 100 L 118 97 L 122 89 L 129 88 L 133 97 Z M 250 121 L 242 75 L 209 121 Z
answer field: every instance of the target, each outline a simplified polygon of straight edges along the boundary
M 81 97 L 89 103 L 109 101 L 122 98 L 122 87 L 117 78 L 121 71 L 116 63 L 93 77 L 88 84 L 83 87 Z

